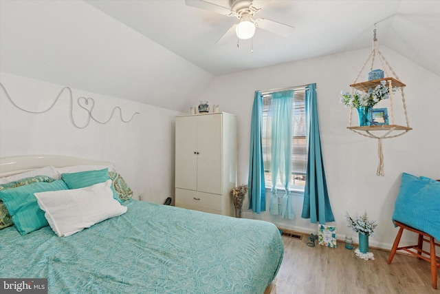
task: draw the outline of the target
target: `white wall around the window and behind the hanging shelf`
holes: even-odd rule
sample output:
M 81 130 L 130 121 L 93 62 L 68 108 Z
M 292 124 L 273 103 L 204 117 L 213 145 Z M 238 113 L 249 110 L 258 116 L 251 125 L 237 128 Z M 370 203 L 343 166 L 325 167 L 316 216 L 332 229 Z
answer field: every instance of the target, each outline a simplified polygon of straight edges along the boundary
M 347 228 L 345 213 L 356 216 L 366 210 L 371 219 L 380 224 L 376 237 L 370 240 L 371 246 L 390 249 L 397 233 L 391 223 L 391 216 L 401 172 L 440 178 L 440 77 L 388 48 L 381 46 L 380 50 L 399 79 L 406 83 L 406 105 L 410 126 L 413 128 L 404 136 L 384 140 L 383 177 L 375 175 L 377 140 L 347 130 L 349 109 L 339 103 L 340 91 L 350 90 L 349 85 L 369 55 L 370 48 L 217 76 L 198 100 L 208 100 L 210 105 L 219 104 L 223 112 L 237 114 L 238 181 L 242 184 L 248 182 L 250 117 L 254 91 L 316 83 L 327 186 L 336 218 L 335 223 L 329 224 L 336 225 L 338 238 L 343 239 L 344 235 L 351 234 L 357 239 L 355 233 Z M 358 82 L 366 81 L 368 72 L 369 69 L 365 70 Z M 395 101 L 395 123 L 406 125 L 400 97 Z M 197 103 L 194 102 L 195 105 Z M 388 107 L 390 111 L 386 104 L 377 107 Z M 356 120 L 357 114 L 353 113 L 353 118 Z M 270 193 L 267 194 L 267 200 L 269 198 Z M 248 207 L 248 202 L 245 202 L 243 216 L 270 220 L 287 229 L 316 233 L 317 225 L 300 217 L 302 205 L 303 198 L 294 198 L 296 218 L 282 220 L 267 212 L 261 215 L 245 212 Z M 404 235 L 402 241 L 411 239 L 412 236 Z

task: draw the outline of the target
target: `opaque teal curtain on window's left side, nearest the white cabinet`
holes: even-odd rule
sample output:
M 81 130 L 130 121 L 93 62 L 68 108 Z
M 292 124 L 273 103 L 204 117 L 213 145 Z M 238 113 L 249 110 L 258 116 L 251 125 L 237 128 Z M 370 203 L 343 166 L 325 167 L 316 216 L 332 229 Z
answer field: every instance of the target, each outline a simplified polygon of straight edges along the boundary
M 261 145 L 261 129 L 263 118 L 263 96 L 255 92 L 250 127 L 250 158 L 249 158 L 249 209 L 256 213 L 266 210 L 266 190 L 264 182 L 263 147 Z

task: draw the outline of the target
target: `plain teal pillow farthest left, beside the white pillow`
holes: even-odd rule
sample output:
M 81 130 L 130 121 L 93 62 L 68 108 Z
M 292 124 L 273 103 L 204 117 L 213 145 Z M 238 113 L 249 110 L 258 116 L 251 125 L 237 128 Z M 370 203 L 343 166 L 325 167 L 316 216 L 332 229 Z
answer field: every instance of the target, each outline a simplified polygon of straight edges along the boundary
M 36 202 L 34 193 L 67 189 L 69 187 L 63 180 L 36 182 L 14 189 L 1 190 L 0 199 L 8 209 L 17 230 L 21 235 L 25 235 L 48 225 L 44 211 L 40 209 L 38 202 Z

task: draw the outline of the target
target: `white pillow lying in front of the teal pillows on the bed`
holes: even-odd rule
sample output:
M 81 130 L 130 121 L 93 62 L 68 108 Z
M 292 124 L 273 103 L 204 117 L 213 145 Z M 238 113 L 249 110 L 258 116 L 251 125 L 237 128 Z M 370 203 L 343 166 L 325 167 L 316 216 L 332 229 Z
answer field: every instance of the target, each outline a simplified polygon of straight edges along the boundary
M 113 198 L 111 180 L 81 189 L 34 193 L 45 218 L 59 237 L 73 235 L 126 212 Z

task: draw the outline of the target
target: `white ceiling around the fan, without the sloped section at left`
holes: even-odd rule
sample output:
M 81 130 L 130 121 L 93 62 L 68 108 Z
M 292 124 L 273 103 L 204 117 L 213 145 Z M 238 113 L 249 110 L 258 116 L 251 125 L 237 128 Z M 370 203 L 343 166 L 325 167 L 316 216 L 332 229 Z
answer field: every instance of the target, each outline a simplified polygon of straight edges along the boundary
M 184 0 L 86 1 L 213 75 L 368 48 L 374 28 L 380 45 L 440 75 L 440 1 L 260 1 L 267 3 L 256 17 L 296 30 L 281 37 L 257 29 L 253 53 L 250 40 L 237 48 L 234 36 L 214 45 L 236 18 Z

